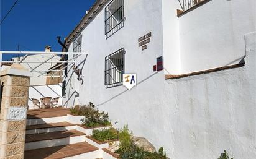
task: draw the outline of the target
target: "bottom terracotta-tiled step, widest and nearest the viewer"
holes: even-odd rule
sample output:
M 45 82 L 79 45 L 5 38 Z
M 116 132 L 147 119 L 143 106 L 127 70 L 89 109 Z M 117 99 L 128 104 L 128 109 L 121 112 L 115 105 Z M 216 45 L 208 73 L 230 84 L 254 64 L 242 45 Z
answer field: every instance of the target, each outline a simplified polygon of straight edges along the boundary
M 25 159 L 99 158 L 99 149 L 86 142 L 25 151 Z

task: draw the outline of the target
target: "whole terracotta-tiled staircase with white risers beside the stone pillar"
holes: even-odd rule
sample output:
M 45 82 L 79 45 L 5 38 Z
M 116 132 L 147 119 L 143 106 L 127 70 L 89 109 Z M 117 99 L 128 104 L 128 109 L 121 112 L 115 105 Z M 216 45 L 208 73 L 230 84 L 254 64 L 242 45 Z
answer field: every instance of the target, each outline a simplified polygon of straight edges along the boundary
M 25 159 L 116 159 L 106 148 L 89 139 L 92 129 L 68 122 L 69 109 L 29 110 Z M 79 121 L 79 120 L 78 120 Z

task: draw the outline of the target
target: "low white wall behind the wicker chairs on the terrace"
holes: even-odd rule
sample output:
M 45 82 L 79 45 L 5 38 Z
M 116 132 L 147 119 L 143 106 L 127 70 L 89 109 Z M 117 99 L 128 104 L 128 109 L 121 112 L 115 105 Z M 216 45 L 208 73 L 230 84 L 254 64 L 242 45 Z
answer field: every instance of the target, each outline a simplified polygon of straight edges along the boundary
M 31 98 L 40 100 L 43 97 L 60 97 L 59 105 L 62 105 L 62 83 L 58 85 L 35 85 L 29 87 L 29 109 L 37 109 L 34 107 Z

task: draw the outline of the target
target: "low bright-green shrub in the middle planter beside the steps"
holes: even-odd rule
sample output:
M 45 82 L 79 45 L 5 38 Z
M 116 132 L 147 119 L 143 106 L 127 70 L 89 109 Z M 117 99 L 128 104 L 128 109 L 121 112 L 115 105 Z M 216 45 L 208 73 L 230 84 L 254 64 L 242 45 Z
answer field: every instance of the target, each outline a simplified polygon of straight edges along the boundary
M 96 140 L 99 140 L 101 142 L 104 142 L 106 140 L 114 140 L 118 139 L 118 131 L 114 128 L 110 129 L 103 129 L 103 130 L 93 130 L 92 137 Z

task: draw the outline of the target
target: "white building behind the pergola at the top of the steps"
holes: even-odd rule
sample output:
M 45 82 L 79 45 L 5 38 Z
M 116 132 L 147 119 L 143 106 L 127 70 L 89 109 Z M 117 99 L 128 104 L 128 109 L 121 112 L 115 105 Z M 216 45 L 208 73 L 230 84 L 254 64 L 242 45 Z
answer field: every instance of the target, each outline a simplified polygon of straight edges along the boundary
M 34 69 L 33 75 L 34 77 L 30 77 L 30 88 L 29 88 L 29 109 L 35 109 L 38 108 L 35 107 L 32 103 L 32 98 L 36 98 L 40 100 L 40 98 L 43 97 L 60 97 L 59 104 L 62 104 L 62 77 L 58 77 L 58 75 L 61 75 L 62 72 L 57 72 L 55 77 L 48 77 L 52 71 L 49 71 L 47 74 L 42 75 L 42 77 L 37 77 L 43 72 L 47 72 L 52 67 L 56 66 L 59 63 L 55 63 L 54 61 L 60 61 L 60 56 L 55 56 L 55 54 L 51 54 L 50 46 L 45 46 L 45 52 L 49 54 L 30 54 L 28 56 L 18 56 L 12 58 L 11 62 L 19 63 L 19 61 L 22 61 L 22 59 L 25 57 L 24 61 L 22 61 L 20 64 L 28 71 L 32 71 Z M 44 62 L 47 59 L 50 59 L 52 62 Z M 42 64 L 43 63 L 43 64 Z M 11 66 L 10 64 L 2 64 L 2 69 L 7 69 Z M 39 66 L 40 65 L 40 66 Z M 37 67 L 39 66 L 39 67 Z M 56 69 L 61 69 L 61 67 L 58 67 Z M 55 70 L 56 70 L 55 69 Z

